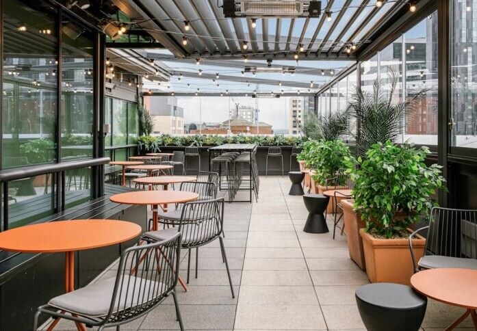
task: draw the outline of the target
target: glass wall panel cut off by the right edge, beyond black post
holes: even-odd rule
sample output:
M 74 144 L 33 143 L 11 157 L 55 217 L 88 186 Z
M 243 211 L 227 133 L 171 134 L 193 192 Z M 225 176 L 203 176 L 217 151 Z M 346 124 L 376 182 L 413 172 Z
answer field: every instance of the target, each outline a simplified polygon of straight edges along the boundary
M 477 0 L 451 0 L 451 145 L 477 148 Z

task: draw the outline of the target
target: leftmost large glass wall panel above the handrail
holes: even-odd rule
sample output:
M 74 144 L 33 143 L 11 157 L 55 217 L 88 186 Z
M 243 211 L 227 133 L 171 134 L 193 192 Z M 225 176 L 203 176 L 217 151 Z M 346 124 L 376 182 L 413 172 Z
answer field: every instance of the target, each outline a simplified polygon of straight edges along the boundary
M 3 168 L 56 160 L 55 12 L 3 5 Z

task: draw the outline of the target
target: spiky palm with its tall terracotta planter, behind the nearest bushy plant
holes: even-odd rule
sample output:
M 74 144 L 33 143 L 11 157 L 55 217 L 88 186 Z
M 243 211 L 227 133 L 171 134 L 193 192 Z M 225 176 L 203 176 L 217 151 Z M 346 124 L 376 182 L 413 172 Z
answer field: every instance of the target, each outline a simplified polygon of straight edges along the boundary
M 391 70 L 388 81 L 389 90 L 384 90 L 378 79 L 374 81 L 373 92 L 357 88 L 348 104 L 348 114 L 353 122 L 359 123 L 357 130 L 350 134 L 356 142 L 357 154 L 362 158 L 365 158 L 366 151 L 374 144 L 398 140 L 402 135 L 402 123 L 413 116 L 418 101 L 422 98 L 422 93 L 418 93 L 411 99 L 396 103 L 394 92 L 399 83 L 396 71 Z M 354 201 L 341 200 L 346 240 L 350 258 L 364 270 L 363 241 L 359 233 L 364 222 L 361 215 L 354 211 L 353 204 Z

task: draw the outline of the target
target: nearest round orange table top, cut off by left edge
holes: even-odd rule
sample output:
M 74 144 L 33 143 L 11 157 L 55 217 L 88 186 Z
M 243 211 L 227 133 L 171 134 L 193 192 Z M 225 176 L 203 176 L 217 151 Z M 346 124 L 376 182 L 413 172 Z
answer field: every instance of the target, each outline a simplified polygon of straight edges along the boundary
M 138 224 L 118 220 L 48 222 L 0 233 L 0 249 L 25 253 L 75 252 L 122 243 L 141 233 Z

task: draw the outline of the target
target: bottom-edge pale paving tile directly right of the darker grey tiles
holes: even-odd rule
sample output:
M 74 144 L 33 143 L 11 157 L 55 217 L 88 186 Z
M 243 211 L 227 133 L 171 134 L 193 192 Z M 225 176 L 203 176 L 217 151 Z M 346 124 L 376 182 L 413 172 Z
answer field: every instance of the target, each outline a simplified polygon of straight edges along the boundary
M 237 306 L 235 330 L 326 330 L 320 306 Z

